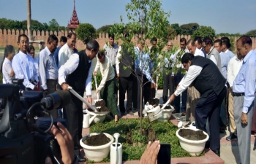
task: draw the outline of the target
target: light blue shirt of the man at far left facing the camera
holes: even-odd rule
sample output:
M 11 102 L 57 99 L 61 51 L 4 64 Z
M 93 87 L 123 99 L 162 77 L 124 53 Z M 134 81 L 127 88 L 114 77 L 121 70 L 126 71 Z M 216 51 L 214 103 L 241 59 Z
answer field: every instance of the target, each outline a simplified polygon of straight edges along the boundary
M 30 55 L 20 51 L 12 60 L 12 69 L 17 79 L 24 79 L 23 85 L 25 87 L 34 89 L 34 85 L 29 82 L 29 79 L 35 79 L 38 82 L 38 77 L 34 59 Z

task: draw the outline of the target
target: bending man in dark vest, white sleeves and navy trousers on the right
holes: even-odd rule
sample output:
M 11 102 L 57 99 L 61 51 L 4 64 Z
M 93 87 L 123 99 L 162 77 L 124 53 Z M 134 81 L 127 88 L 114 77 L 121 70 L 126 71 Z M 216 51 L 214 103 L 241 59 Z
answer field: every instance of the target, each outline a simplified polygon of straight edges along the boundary
M 226 79 L 222 76 L 215 63 L 192 53 L 185 53 L 181 63 L 187 74 L 181 79 L 177 89 L 170 96 L 170 102 L 184 90 L 193 85 L 201 95 L 195 106 L 196 128 L 206 132 L 206 120 L 210 127 L 210 148 L 215 154 L 220 155 L 219 148 L 219 114 L 218 106 L 226 94 Z

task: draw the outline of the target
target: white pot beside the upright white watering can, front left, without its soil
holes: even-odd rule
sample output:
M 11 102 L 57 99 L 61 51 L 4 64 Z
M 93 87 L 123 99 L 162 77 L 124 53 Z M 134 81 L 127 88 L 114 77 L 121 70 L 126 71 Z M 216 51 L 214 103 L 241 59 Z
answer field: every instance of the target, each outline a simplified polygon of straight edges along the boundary
M 86 157 L 89 160 L 94 160 L 94 162 L 100 162 L 102 161 L 105 157 L 108 157 L 109 152 L 110 152 L 110 145 L 113 143 L 114 138 L 108 133 L 104 133 L 108 138 L 110 138 L 110 142 L 108 144 L 100 145 L 100 146 L 88 146 L 86 144 L 83 144 L 83 141 L 86 140 L 86 138 L 90 136 L 95 136 L 99 135 L 100 133 L 90 133 L 83 138 L 80 139 L 80 145 L 83 147 L 83 151 L 86 154 Z

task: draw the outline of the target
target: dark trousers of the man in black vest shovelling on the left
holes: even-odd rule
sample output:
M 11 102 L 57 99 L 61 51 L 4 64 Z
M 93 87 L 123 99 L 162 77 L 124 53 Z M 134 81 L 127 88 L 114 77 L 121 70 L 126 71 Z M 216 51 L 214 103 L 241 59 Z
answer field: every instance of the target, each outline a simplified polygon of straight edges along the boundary
M 83 91 L 76 92 L 83 97 Z M 67 120 L 69 122 L 69 133 L 71 134 L 74 141 L 75 155 L 80 154 L 80 144 L 79 141 L 82 138 L 82 128 L 83 128 L 83 102 L 80 101 L 75 95 L 70 93 L 71 100 L 67 106 L 65 106 L 67 112 Z

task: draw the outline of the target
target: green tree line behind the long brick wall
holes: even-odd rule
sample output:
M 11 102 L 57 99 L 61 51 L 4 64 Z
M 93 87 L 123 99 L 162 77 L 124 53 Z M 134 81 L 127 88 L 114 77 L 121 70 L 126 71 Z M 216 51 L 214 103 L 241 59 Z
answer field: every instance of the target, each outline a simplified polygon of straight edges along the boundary
M 122 26 L 119 30 L 120 33 L 127 33 L 131 32 L 129 31 L 130 23 L 127 23 L 126 25 Z M 99 36 L 99 33 L 110 33 L 110 29 L 113 27 L 113 25 L 105 25 L 98 29 L 94 28 L 90 23 L 80 23 L 80 26 L 76 29 L 76 32 L 78 33 L 78 38 L 83 40 L 84 43 L 88 42 L 90 39 L 97 39 Z M 0 18 L 0 28 L 3 29 L 15 29 L 15 30 L 26 30 L 27 29 L 27 20 L 19 21 L 19 20 L 7 20 L 6 18 Z M 69 28 L 65 26 L 59 26 L 59 23 L 56 21 L 56 19 L 52 19 L 49 21 L 49 23 L 40 23 L 37 20 L 31 20 L 31 30 L 32 31 L 69 31 Z M 141 30 L 143 30 L 141 32 Z M 132 33 L 135 34 L 146 34 L 148 31 L 147 28 L 140 29 L 135 28 Z M 210 36 L 211 38 L 216 38 L 217 36 L 241 36 L 242 34 L 236 33 L 236 34 L 229 34 L 229 33 L 220 33 L 216 34 L 215 30 L 211 28 L 210 26 L 200 26 L 198 23 L 187 23 L 184 25 L 179 25 L 178 23 L 167 25 L 167 31 L 165 35 L 165 39 L 174 39 L 176 35 L 191 35 L 192 38 L 195 38 L 195 36 L 200 36 L 201 38 L 204 38 L 206 36 Z M 245 35 L 256 37 L 256 29 L 248 31 Z

